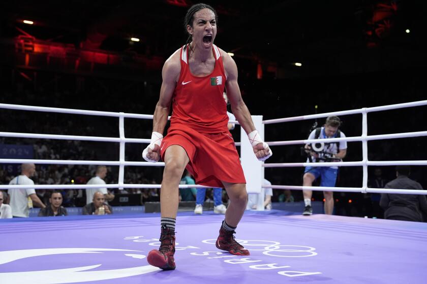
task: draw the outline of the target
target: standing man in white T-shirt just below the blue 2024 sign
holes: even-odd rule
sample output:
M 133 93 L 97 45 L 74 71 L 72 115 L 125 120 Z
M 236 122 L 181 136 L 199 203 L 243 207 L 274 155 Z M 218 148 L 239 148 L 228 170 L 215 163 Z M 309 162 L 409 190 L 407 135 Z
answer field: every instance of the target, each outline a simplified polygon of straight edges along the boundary
M 22 164 L 21 175 L 14 177 L 9 185 L 34 185 L 34 182 L 29 178 L 32 177 L 35 172 L 35 164 Z M 8 194 L 13 217 L 27 218 L 29 216 L 29 208 L 33 208 L 33 204 L 37 207 L 46 207 L 37 196 L 34 188 L 9 189 Z

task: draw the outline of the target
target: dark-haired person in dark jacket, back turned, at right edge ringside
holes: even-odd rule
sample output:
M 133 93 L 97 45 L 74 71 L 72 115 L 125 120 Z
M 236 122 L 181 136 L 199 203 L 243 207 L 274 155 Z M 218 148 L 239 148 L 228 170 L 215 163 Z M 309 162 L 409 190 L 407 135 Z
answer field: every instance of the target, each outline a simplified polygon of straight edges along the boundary
M 410 169 L 410 166 L 396 166 L 396 179 L 384 188 L 422 190 L 419 183 L 408 177 Z M 385 219 L 422 222 L 422 212 L 427 214 L 427 199 L 420 194 L 382 193 L 380 206 L 385 210 Z

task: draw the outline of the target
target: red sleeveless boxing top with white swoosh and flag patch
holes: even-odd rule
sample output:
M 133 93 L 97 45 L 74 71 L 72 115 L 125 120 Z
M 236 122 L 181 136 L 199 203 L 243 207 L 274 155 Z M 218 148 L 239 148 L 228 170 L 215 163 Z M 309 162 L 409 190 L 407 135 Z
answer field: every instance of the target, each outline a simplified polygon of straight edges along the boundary
M 212 47 L 215 67 L 212 73 L 197 77 L 188 64 L 189 46 L 181 48 L 181 72 L 172 97 L 171 128 L 184 124 L 198 132 L 227 132 L 227 105 L 223 98 L 225 81 L 220 50 Z

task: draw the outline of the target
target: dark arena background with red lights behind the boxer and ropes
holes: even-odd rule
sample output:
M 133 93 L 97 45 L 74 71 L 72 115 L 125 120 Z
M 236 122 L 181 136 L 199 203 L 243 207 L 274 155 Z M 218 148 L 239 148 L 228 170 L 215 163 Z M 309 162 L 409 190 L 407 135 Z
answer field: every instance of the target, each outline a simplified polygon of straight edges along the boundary
M 164 61 L 187 35 L 192 1 L 15 1 L 0 4 L 0 102 L 45 107 L 152 114 Z M 217 9 L 215 44 L 234 53 L 243 99 L 264 119 L 360 109 L 426 98 L 425 11 L 421 1 L 207 1 Z M 34 21 L 33 25 L 22 23 Z M 405 30 L 409 29 L 410 33 Z M 131 37 L 140 42 L 130 41 Z M 301 62 L 302 66 L 293 63 Z M 425 130 L 416 107 L 368 115 L 368 134 Z M 361 115 L 343 116 L 347 136 L 361 135 Z M 323 124 L 324 119 L 318 123 Z M 126 137 L 148 138 L 151 121 L 126 119 Z M 307 138 L 314 120 L 266 125 L 266 141 Z M 0 131 L 118 136 L 114 118 L 0 109 Z M 233 135 L 239 140 L 239 130 Z M 425 137 L 368 143 L 370 160 L 427 160 Z M 0 144 L 45 145 L 35 158 L 118 159 L 118 144 L 0 137 Z M 144 145 L 127 144 L 126 158 L 141 161 Z M 268 162 L 300 162 L 300 146 L 273 147 Z M 35 148 L 36 149 L 36 148 Z M 37 150 L 37 149 L 36 149 Z M 345 161 L 361 160 L 361 143 L 348 144 Z M 4 165 L 5 166 L 5 165 Z M 4 167 L 5 168 L 5 167 Z M 394 167 L 381 167 L 386 180 Z M 374 167 L 369 167 L 370 179 Z M 58 167 L 44 166 L 47 175 Z M 90 176 L 70 167 L 61 183 Z M 117 182 L 117 168 L 107 176 Z M 160 183 L 162 169 L 126 167 L 128 183 Z M 60 169 L 59 172 L 64 171 Z M 302 168 L 266 169 L 275 185 L 301 185 Z M 3 170 L 2 183 L 8 183 Z M 57 174 L 58 175 L 58 174 Z M 59 174 L 60 175 L 60 174 Z M 59 176 L 58 175 L 58 176 Z M 425 166 L 411 177 L 425 188 Z M 62 176 L 64 177 L 64 176 Z M 54 177 L 52 177 L 54 180 Z M 81 181 L 82 183 L 84 180 Z M 361 187 L 361 167 L 340 169 L 338 186 Z M 277 192 L 278 193 L 278 192 Z M 302 193 L 292 192 L 295 200 Z M 273 199 L 277 199 L 275 193 Z M 322 200 L 315 192 L 316 200 Z M 335 193 L 363 216 L 359 193 Z M 369 199 L 369 198 L 368 198 Z M 342 204 L 342 203 L 340 203 Z M 348 207 L 349 204 L 346 206 Z

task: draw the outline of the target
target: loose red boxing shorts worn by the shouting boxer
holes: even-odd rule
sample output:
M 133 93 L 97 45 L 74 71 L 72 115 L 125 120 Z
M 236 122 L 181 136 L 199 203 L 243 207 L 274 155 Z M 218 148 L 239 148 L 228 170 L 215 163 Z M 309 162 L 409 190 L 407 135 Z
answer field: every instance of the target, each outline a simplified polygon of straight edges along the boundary
M 179 145 L 186 150 L 190 158 L 186 168 L 194 176 L 196 184 L 220 188 L 224 187 L 222 181 L 246 184 L 230 132 L 200 133 L 185 125 L 174 125 L 160 146 L 162 160 L 171 145 Z

